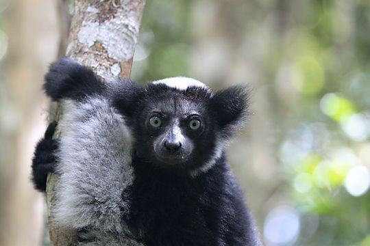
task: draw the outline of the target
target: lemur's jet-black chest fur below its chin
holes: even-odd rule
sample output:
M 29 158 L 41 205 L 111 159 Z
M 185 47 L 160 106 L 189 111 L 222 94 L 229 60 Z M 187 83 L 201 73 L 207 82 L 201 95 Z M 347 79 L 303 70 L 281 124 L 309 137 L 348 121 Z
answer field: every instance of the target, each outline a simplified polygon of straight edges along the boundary
M 148 245 L 216 245 L 219 198 L 205 182 L 136 170 L 131 197 L 129 224 Z

